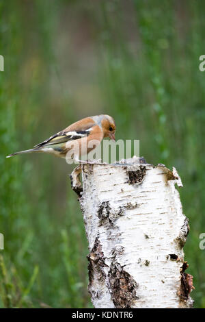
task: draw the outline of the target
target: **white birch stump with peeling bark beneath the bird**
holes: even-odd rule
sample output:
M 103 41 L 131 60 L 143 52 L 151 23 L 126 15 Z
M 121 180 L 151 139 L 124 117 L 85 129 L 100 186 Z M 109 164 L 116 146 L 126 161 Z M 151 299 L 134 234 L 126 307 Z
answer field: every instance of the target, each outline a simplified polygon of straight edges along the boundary
M 193 277 L 184 273 L 189 223 L 175 187 L 182 182 L 176 169 L 145 162 L 83 164 L 70 176 L 89 243 L 88 290 L 95 308 L 193 305 Z

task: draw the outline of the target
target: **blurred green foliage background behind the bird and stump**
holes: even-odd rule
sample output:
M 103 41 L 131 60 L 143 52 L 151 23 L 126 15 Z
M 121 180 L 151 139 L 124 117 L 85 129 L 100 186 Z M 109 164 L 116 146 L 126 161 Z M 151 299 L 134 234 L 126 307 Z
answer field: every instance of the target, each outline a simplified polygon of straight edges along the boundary
M 5 156 L 100 113 L 148 162 L 178 169 L 187 272 L 205 307 L 204 11 L 200 0 L 0 1 L 1 308 L 92 307 L 73 166 Z

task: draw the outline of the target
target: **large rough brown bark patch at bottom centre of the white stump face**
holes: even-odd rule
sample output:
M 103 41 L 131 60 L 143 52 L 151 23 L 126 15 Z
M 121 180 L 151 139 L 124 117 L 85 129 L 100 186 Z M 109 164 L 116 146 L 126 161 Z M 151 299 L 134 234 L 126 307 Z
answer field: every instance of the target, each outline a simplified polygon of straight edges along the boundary
M 115 308 L 131 308 L 133 302 L 139 299 L 136 295 L 139 286 L 133 277 L 124 271 L 118 263 L 111 263 L 109 270 L 109 285 L 111 288 L 111 299 Z

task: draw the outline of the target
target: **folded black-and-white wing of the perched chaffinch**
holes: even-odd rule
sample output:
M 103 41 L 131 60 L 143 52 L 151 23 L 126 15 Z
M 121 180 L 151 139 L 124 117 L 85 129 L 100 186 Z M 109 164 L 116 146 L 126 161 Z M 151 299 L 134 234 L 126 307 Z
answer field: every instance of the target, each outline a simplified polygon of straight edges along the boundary
M 48 145 L 56 145 L 59 143 L 65 143 L 68 140 L 77 140 L 79 138 L 84 138 L 85 136 L 88 136 L 90 134 L 91 128 L 85 129 L 83 131 L 68 131 L 68 132 L 58 132 L 57 134 L 54 134 L 53 136 L 50 136 L 50 138 L 47 138 L 42 143 L 39 143 L 38 145 L 35 145 L 34 147 L 45 147 Z

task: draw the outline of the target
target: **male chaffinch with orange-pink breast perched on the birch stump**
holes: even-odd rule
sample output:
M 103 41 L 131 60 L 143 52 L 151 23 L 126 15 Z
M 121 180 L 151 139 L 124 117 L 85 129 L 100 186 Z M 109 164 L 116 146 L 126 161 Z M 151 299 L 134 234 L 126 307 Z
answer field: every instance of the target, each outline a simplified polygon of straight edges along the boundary
M 95 149 L 101 140 L 106 137 L 115 140 L 115 121 L 113 118 L 109 115 L 90 116 L 50 136 L 47 140 L 35 145 L 33 149 L 12 153 L 7 158 L 20 153 L 44 152 L 60 158 L 68 157 L 76 162 L 82 162 L 79 157 Z

